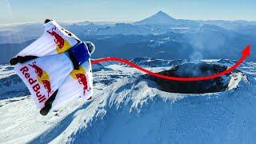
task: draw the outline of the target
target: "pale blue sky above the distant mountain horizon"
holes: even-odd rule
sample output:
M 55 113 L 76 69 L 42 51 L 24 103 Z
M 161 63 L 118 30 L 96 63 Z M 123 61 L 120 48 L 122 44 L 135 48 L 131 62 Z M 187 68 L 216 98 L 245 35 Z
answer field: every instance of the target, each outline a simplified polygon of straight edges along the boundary
M 0 25 L 138 21 L 162 10 L 174 18 L 256 21 L 256 0 L 0 0 Z

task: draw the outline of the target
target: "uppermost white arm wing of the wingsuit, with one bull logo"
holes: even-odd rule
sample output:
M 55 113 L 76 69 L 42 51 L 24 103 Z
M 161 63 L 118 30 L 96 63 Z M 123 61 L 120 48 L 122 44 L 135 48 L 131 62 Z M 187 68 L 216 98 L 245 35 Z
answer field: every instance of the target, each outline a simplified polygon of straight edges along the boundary
M 80 41 L 70 31 L 59 26 L 54 20 L 46 19 L 43 24 L 44 32 L 40 38 L 20 51 L 16 57 L 42 57 L 52 54 L 61 54 L 77 45 Z

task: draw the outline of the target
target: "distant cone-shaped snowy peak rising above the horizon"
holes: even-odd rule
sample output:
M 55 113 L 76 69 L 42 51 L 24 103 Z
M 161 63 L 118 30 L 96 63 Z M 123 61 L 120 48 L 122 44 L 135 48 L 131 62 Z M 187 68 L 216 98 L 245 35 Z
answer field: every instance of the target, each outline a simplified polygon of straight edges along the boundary
M 142 21 L 134 22 L 137 25 L 170 25 L 177 20 L 175 18 L 170 17 L 170 15 L 158 11 L 157 14 L 150 16 L 149 18 L 145 18 Z

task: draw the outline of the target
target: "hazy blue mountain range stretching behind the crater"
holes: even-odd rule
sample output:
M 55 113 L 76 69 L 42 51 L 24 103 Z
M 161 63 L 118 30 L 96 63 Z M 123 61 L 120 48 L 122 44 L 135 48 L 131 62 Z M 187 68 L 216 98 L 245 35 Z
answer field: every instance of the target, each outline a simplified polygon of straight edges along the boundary
M 93 58 L 238 59 L 246 45 L 256 46 L 256 22 L 184 20 L 162 11 L 138 22 L 61 24 L 78 38 L 94 42 Z M 41 34 L 39 23 L 1 26 L 0 63 L 7 63 Z

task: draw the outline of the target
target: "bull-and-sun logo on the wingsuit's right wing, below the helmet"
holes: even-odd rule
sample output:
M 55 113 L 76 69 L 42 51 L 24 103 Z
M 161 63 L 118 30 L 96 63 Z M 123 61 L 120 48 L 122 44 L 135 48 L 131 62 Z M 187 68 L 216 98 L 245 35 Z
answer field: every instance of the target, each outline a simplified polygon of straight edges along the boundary
M 86 78 L 86 70 L 82 66 L 79 67 L 79 70 L 73 70 L 70 73 L 70 75 L 75 80 L 78 80 L 79 84 L 82 86 L 82 88 L 83 88 L 83 95 L 86 94 L 86 91 L 90 91 L 91 90 L 91 88 L 88 87 L 88 82 L 87 82 L 87 78 Z

